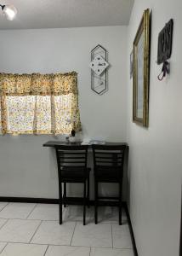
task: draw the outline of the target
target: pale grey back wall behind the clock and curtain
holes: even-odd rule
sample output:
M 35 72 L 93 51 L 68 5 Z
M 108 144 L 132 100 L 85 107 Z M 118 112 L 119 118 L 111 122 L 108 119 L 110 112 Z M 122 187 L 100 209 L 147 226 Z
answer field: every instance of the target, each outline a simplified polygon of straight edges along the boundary
M 109 90 L 90 89 L 90 51 L 108 50 Z M 0 31 L 0 72 L 77 71 L 83 137 L 126 140 L 127 27 Z M 0 196 L 58 197 L 54 150 L 42 145 L 50 136 L 0 137 Z

